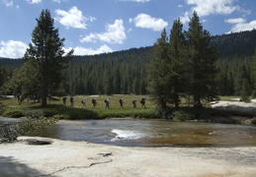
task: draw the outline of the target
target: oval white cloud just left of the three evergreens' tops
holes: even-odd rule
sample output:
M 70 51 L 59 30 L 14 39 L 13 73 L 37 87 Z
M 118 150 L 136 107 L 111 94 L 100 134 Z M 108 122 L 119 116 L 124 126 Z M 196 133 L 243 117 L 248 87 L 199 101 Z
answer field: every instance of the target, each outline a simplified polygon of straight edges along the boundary
M 143 29 L 162 30 L 168 23 L 162 19 L 153 18 L 147 14 L 139 14 L 134 19 L 129 19 L 129 23 L 134 23 L 135 27 Z

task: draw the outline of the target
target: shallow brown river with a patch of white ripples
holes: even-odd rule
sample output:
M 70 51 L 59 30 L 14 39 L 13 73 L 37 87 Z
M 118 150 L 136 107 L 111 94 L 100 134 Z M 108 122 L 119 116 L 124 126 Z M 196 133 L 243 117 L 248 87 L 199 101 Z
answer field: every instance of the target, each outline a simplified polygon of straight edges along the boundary
M 256 146 L 256 126 L 159 119 L 61 120 L 30 136 L 126 147 Z

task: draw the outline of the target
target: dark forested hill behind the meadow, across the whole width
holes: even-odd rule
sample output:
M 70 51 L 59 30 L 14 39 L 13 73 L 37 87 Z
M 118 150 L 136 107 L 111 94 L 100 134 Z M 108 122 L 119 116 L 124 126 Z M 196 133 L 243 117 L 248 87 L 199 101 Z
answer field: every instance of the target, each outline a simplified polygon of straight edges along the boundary
M 248 76 L 251 89 L 254 89 L 251 63 L 256 48 L 256 29 L 215 35 L 212 44 L 219 54 L 216 63 L 219 94 L 239 94 L 243 76 L 238 76 L 238 73 L 241 71 Z M 148 46 L 92 56 L 74 56 L 65 71 L 61 89 L 67 94 L 146 94 L 146 65 L 152 50 L 153 47 Z M 0 65 L 10 75 L 22 64 L 23 60 L 20 59 L 0 59 Z

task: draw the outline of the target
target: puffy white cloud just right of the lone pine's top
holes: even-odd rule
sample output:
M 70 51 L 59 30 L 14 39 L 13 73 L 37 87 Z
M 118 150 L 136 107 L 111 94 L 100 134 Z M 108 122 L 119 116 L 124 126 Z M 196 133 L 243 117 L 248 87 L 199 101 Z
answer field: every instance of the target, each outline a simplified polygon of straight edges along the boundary
M 74 29 L 86 29 L 86 22 L 94 21 L 95 18 L 86 18 L 83 16 L 82 11 L 79 11 L 77 7 L 72 7 L 68 12 L 57 9 L 55 10 L 57 17 L 55 18 L 61 25 Z

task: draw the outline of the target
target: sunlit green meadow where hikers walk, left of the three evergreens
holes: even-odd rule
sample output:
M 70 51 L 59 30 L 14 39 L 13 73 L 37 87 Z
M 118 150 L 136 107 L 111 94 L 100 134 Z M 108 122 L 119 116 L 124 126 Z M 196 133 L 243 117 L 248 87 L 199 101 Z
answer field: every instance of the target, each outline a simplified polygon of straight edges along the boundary
M 48 101 L 46 108 L 41 107 L 35 100 L 25 100 L 21 105 L 17 98 L 1 98 L 2 115 L 6 117 L 21 116 L 58 116 L 66 119 L 92 119 L 108 117 L 143 117 L 153 118 L 154 104 L 148 95 L 76 95 L 74 106 L 70 105 L 70 96 L 67 96 L 66 106 L 63 105 L 62 97 L 55 97 Z M 145 108 L 141 107 L 140 99 L 146 98 Z M 93 107 L 92 99 L 96 98 L 97 105 Z M 110 99 L 110 109 L 106 109 L 105 99 Z M 124 108 L 121 107 L 119 100 L 124 99 Z M 86 100 L 86 107 L 82 108 L 82 100 Z M 136 108 L 133 108 L 131 101 L 136 100 Z

